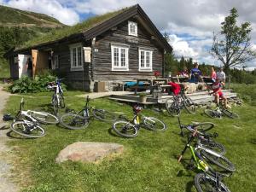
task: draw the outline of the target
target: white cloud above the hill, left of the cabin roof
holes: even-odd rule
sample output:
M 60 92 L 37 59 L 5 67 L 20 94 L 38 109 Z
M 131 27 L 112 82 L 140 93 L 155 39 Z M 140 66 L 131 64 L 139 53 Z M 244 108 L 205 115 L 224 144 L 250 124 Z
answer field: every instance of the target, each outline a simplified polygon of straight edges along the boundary
M 79 22 L 79 15 L 73 9 L 61 5 L 56 0 L 10 0 L 5 4 L 17 9 L 53 16 L 67 25 Z

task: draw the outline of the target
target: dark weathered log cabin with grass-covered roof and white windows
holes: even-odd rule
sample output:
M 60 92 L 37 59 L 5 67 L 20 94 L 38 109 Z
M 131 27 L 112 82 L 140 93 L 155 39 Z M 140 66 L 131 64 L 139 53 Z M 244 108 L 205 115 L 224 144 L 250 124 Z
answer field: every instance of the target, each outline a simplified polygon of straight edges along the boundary
M 155 71 L 165 76 L 164 55 L 172 52 L 138 4 L 49 36 L 5 54 L 12 79 L 26 74 L 26 60 L 31 57 L 33 77 L 51 69 L 73 88 L 93 91 L 104 82 L 106 90 L 113 90 L 125 81 L 154 78 Z

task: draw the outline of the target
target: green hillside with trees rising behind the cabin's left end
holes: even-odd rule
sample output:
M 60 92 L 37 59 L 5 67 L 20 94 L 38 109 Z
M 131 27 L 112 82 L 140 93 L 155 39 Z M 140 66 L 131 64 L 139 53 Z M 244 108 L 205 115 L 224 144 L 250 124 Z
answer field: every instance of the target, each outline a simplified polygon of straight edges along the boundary
M 48 15 L 0 5 L 0 79 L 9 77 L 6 51 L 62 27 L 66 26 Z

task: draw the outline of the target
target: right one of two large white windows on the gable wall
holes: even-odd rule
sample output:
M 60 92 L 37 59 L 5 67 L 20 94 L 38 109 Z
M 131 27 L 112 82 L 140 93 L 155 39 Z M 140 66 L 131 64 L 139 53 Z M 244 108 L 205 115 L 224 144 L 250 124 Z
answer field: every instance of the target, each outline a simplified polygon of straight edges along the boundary
M 152 72 L 153 49 L 139 49 L 139 71 Z

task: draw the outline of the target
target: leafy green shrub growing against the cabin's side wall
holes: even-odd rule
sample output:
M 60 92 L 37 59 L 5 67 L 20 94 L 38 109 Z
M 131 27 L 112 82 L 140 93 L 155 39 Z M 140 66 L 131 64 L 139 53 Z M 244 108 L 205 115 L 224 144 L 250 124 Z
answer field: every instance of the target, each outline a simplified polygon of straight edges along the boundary
M 12 93 L 38 93 L 49 91 L 46 87 L 49 82 L 55 81 L 56 76 L 49 73 L 44 72 L 35 77 L 35 79 L 30 79 L 26 76 L 21 77 L 16 80 L 14 84 L 9 87 L 9 90 Z M 61 84 L 63 90 L 66 90 L 66 85 Z

